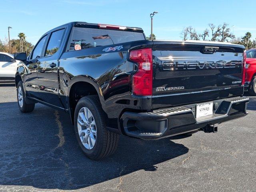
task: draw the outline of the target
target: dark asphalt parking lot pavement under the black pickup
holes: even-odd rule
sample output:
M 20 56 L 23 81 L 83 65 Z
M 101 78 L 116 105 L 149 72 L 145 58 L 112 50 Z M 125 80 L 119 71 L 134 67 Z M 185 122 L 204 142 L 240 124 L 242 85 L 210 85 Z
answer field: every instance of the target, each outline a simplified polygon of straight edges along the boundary
M 69 115 L 36 104 L 21 113 L 14 84 L 0 84 L 0 191 L 256 191 L 256 97 L 246 117 L 144 141 L 121 136 L 100 161 L 80 150 Z

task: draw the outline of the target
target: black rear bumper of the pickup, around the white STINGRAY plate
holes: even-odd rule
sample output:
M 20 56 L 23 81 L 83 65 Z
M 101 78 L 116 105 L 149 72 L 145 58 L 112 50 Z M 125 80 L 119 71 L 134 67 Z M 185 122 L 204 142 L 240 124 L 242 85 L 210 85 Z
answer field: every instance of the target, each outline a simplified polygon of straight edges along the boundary
M 218 108 L 212 115 L 195 118 L 196 104 L 175 108 L 154 110 L 152 112 L 124 112 L 119 120 L 121 131 L 130 137 L 141 139 L 158 139 L 174 136 L 193 130 L 213 130 L 212 125 L 247 115 L 249 98 L 235 97 L 213 101 Z M 208 129 L 206 129 L 208 127 Z M 210 127 L 210 128 L 209 128 Z

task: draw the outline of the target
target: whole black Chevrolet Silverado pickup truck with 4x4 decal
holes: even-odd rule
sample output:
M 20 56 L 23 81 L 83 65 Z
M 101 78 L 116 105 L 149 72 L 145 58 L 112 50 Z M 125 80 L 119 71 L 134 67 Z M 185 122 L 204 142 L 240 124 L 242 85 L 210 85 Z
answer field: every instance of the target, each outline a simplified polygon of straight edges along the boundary
M 15 82 L 21 112 L 66 111 L 87 157 L 112 154 L 119 134 L 159 139 L 245 116 L 244 46 L 146 40 L 141 28 L 71 22 L 46 32 Z

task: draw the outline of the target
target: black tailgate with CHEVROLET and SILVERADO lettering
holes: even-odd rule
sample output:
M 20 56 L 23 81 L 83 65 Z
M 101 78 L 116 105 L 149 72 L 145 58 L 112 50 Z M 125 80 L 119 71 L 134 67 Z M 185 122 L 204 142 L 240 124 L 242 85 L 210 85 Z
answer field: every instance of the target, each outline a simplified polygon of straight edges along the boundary
M 243 52 L 234 44 L 154 41 L 152 108 L 242 95 Z

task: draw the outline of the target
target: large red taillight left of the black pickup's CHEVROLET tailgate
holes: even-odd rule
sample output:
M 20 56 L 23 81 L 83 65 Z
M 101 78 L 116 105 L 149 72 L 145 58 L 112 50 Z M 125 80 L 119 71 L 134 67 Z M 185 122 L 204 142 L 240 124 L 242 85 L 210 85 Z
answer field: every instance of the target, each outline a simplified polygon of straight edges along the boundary
M 152 95 L 152 49 L 137 49 L 130 52 L 130 60 L 138 64 L 138 71 L 132 76 L 132 92 L 138 96 Z

